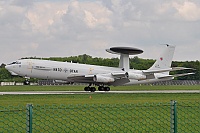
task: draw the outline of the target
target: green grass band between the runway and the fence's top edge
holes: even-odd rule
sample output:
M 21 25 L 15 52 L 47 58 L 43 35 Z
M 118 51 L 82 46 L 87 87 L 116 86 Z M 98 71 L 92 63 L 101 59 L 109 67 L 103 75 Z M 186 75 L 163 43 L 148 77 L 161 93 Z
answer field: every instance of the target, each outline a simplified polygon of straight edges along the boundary
M 92 97 L 92 98 L 91 98 Z M 84 95 L 3 95 L 0 106 L 52 104 L 127 104 L 146 102 L 200 101 L 200 94 L 84 94 Z

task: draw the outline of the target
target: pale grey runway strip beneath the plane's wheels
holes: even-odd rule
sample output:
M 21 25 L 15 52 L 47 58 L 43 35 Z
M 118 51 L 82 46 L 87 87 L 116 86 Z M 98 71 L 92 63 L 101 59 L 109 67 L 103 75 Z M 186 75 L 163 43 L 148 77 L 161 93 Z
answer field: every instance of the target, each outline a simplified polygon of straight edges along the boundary
M 199 93 L 200 90 L 149 90 L 149 91 L 17 91 L 0 92 L 0 95 L 75 95 L 75 94 L 169 94 L 169 93 Z

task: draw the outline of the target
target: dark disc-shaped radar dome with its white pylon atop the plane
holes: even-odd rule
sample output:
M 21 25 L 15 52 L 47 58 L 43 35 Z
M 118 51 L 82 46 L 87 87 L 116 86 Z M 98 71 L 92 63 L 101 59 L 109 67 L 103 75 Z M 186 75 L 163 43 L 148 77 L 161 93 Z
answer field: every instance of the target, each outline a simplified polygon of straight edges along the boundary
M 106 49 L 107 52 L 112 54 L 120 55 L 119 68 L 123 71 L 128 71 L 130 69 L 129 55 L 136 55 L 143 53 L 143 50 L 131 47 L 112 47 Z

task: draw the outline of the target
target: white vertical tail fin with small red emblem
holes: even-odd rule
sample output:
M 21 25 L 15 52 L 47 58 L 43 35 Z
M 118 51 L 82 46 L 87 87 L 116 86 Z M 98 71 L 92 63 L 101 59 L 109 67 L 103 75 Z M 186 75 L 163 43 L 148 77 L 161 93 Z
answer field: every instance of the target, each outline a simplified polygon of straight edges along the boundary
M 159 70 L 171 67 L 175 46 L 166 44 L 167 48 L 148 70 Z M 169 73 L 169 72 L 167 72 Z

